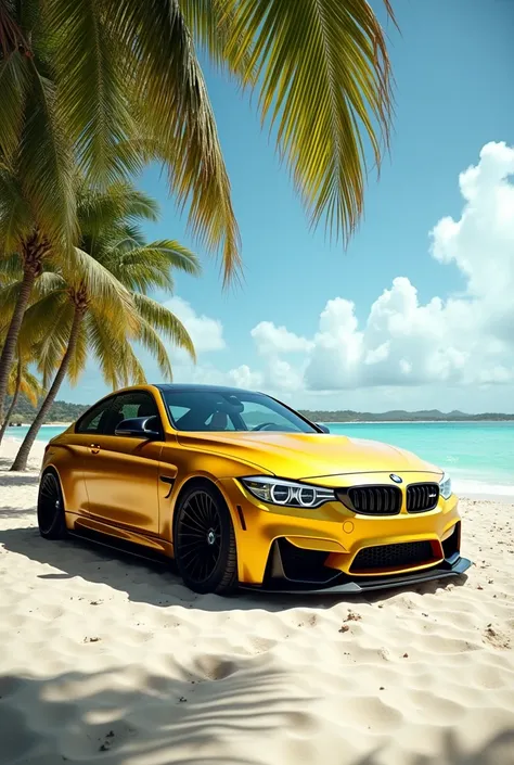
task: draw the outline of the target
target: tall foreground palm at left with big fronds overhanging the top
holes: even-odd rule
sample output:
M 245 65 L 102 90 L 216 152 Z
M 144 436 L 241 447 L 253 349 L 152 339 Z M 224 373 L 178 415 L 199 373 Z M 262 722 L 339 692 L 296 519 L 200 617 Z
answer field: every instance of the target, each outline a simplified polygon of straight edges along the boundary
M 41 252 L 66 251 L 76 231 L 74 157 L 102 182 L 164 162 L 193 233 L 221 253 L 226 281 L 236 271 L 237 225 L 195 46 L 258 91 L 311 224 L 344 238 L 356 228 L 361 132 L 378 165 L 391 114 L 385 34 L 367 0 L 0 0 L 0 168 L 16 168 L 35 215 L 17 247 L 26 281 L 0 358 L 0 415 Z

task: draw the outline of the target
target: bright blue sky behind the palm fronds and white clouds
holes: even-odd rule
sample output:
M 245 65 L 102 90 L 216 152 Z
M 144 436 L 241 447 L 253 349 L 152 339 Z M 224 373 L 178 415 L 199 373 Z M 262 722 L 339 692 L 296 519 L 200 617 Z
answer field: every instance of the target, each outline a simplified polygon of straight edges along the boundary
M 373 5 L 383 16 L 381 3 Z M 446 255 L 437 259 L 429 252 L 429 232 L 441 218 L 451 216 L 459 220 L 462 216 L 466 202 L 459 189 L 459 174 L 471 165 L 478 166 L 483 146 L 490 142 L 514 143 L 510 52 L 514 39 L 514 2 L 394 0 L 394 8 L 401 35 L 388 25 L 397 85 L 390 156 L 385 158 L 380 180 L 370 178 L 365 216 L 346 252 L 340 244 L 325 241 L 322 230 L 309 229 L 287 170 L 279 165 L 273 142 L 260 129 L 256 110 L 232 82 L 205 66 L 241 227 L 245 280 L 241 286 L 222 291 L 218 264 L 202 251 L 197 252 L 204 264 L 203 277 L 177 278 L 176 294 L 180 297 L 175 304 L 177 313 L 183 316 L 187 327 L 188 317 L 193 317 L 198 328 L 202 327 L 198 317 L 207 317 L 210 324 L 206 324 L 206 337 L 213 331 L 213 321 L 218 322 L 215 331 L 218 340 L 211 349 L 208 342 L 200 342 L 205 349 L 201 349 L 196 370 L 174 354 L 176 379 L 253 383 L 299 406 L 319 408 L 380 410 L 438 406 L 474 411 L 513 410 L 512 347 L 507 342 L 497 348 L 498 337 L 491 340 L 490 328 L 484 326 L 487 316 L 483 317 L 480 332 L 484 331 L 484 343 L 496 348 L 494 358 L 478 358 L 480 352 L 471 341 L 461 347 L 455 326 L 451 336 L 445 334 L 446 329 L 436 339 L 431 335 L 428 345 L 423 345 L 426 333 L 423 342 L 417 335 L 417 343 L 416 337 L 407 340 L 407 345 L 420 348 L 429 348 L 431 343 L 432 347 L 439 343 L 454 348 L 457 356 L 452 354 L 450 361 L 445 347 L 438 352 L 437 359 L 442 359 L 440 364 L 446 370 L 440 379 L 415 356 L 400 358 L 402 353 L 397 346 L 401 339 L 396 336 L 396 346 L 388 344 L 384 326 L 374 333 L 370 330 L 368 340 L 356 341 L 356 333 L 369 323 L 373 304 L 384 290 L 391 290 L 398 277 L 415 286 L 420 306 L 437 296 L 448 308 L 446 302 L 462 293 L 461 305 L 468 306 L 475 301 L 476 290 L 470 292 L 474 277 L 470 276 L 463 255 L 465 242 L 459 244 L 460 255 L 449 254 L 447 247 Z M 509 166 L 510 156 L 503 160 Z M 506 180 L 500 178 L 499 182 Z M 196 248 L 185 219 L 178 216 L 174 201 L 168 197 L 158 168 L 149 168 L 140 186 L 162 204 L 162 221 L 147 227 L 149 238 L 172 237 Z M 514 220 L 509 221 L 510 231 L 511 224 Z M 500 239 L 503 241 L 504 237 Z M 493 266 L 494 241 L 486 242 L 486 247 L 483 243 L 484 258 Z M 479 253 L 475 263 L 478 257 Z M 505 255 L 500 265 L 514 281 L 512 257 Z M 474 273 L 478 271 L 475 269 Z M 397 284 L 403 297 L 409 289 L 407 282 Z M 488 295 L 494 289 L 493 283 L 488 284 L 489 293 L 479 295 L 474 317 L 477 313 L 488 315 Z M 396 299 L 395 294 L 389 302 Z M 345 324 L 344 330 L 340 323 L 334 323 L 346 322 L 347 304 L 340 302 L 332 305 L 324 330 L 320 329 L 320 315 L 327 301 L 335 298 L 355 304 L 351 327 Z M 183 302 L 189 304 L 185 308 Z M 455 311 L 450 313 L 454 316 Z M 384 317 L 384 311 L 381 316 Z M 449 316 L 438 315 L 435 321 L 446 326 L 451 321 Z M 354 319 L 358 321 L 357 328 L 351 323 Z M 271 329 L 261 322 L 269 322 Z M 278 332 L 280 328 L 286 329 Z M 321 348 L 317 341 L 320 332 L 324 333 Z M 331 332 L 333 343 L 326 336 Z M 337 344 L 338 332 L 343 350 Z M 197 335 L 192 334 L 196 340 Z M 349 339 L 349 334 L 354 337 Z M 356 350 L 356 342 L 364 343 L 365 348 Z M 361 360 L 355 361 L 352 354 L 360 354 Z M 474 358 L 480 367 L 497 371 L 481 378 L 472 374 L 470 370 L 476 367 Z M 439 364 L 437 359 L 432 364 Z M 281 375 L 275 374 L 278 365 L 282 365 Z M 360 365 L 359 369 L 356 365 Z M 400 377 L 394 367 L 401 369 Z M 498 371 L 500 368 L 504 371 Z M 152 365 L 147 371 L 149 378 L 158 379 Z M 65 386 L 60 397 L 90 401 L 104 391 L 99 374 L 90 367 L 78 387 Z

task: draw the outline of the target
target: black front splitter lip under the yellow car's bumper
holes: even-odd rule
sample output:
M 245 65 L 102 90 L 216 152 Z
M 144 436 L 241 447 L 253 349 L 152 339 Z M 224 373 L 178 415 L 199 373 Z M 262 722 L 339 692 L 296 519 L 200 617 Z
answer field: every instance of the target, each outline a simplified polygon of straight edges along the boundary
M 416 571 L 412 574 L 399 574 L 387 576 L 359 576 L 351 578 L 345 574 L 337 576 L 337 584 L 323 586 L 314 582 L 294 582 L 292 579 L 273 579 L 264 585 L 240 585 L 241 589 L 259 592 L 280 592 L 282 595 L 296 595 L 305 592 L 309 595 L 359 595 L 376 589 L 390 589 L 393 587 L 412 587 L 433 579 L 444 579 L 449 576 L 461 576 L 472 565 L 467 558 L 461 558 L 454 553 L 433 569 Z M 342 581 L 344 578 L 344 581 Z

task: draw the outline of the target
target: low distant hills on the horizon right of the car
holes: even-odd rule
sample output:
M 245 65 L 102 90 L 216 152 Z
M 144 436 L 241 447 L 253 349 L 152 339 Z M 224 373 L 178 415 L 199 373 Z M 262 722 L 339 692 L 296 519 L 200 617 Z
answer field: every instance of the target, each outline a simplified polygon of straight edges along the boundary
M 304 409 L 301 413 L 313 422 L 475 422 L 479 420 L 514 420 L 514 415 L 502 415 L 500 412 L 466 415 L 458 409 L 450 412 L 439 411 L 439 409 L 421 409 L 420 411 L 393 409 L 391 411 L 378 413 L 372 411 L 351 411 L 351 409 L 337 411 L 312 411 Z

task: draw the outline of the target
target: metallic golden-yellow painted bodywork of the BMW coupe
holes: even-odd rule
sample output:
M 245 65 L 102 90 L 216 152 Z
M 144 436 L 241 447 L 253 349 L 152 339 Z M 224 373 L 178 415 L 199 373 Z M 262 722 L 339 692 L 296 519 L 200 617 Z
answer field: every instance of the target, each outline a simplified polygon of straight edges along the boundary
M 74 425 L 53 438 L 42 472 L 52 467 L 59 474 L 68 528 L 89 527 L 172 556 L 177 499 L 191 480 L 205 479 L 218 487 L 229 508 L 241 583 L 262 583 L 271 545 L 279 538 L 295 548 L 325 551 L 326 565 L 344 573 L 350 572 L 360 550 L 378 545 L 427 540 L 433 558 L 415 566 L 374 570 L 375 576 L 423 570 L 444 559 L 441 544 L 460 521 L 458 500 L 439 497 L 434 510 L 407 512 L 407 485 L 438 483 L 442 474 L 414 455 L 321 433 L 177 432 L 158 388 L 125 390 L 147 391 L 154 397 L 164 438 L 82 435 Z M 267 474 L 337 488 L 393 486 L 390 473 L 402 479 L 403 496 L 401 511 L 390 517 L 359 515 L 340 501 L 314 509 L 265 505 L 239 481 Z

